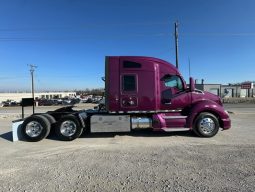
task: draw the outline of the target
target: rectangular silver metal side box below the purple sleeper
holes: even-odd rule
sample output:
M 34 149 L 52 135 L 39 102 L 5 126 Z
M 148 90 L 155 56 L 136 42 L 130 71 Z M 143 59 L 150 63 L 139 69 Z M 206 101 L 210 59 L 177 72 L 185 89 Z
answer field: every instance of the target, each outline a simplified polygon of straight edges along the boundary
M 129 115 L 93 115 L 90 119 L 91 133 L 130 132 Z

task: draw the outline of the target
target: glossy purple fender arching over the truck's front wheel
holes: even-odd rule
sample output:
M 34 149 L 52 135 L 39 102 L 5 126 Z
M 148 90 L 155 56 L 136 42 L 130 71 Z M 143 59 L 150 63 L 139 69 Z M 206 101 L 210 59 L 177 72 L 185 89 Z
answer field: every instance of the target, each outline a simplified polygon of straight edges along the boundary
M 201 112 L 209 112 L 216 115 L 219 118 L 221 127 L 223 128 L 225 128 L 225 125 L 223 125 L 221 122 L 229 119 L 229 115 L 224 110 L 223 106 L 211 100 L 201 100 L 192 104 L 190 109 L 190 115 L 187 118 L 186 126 L 192 129 L 193 121 Z

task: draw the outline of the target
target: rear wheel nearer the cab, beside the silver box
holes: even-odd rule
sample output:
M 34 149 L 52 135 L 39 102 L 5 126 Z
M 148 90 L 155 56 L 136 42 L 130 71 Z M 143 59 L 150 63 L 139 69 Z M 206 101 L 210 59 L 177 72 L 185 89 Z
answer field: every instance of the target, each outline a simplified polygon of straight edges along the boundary
M 81 123 L 74 115 L 63 116 L 55 126 L 55 133 L 62 141 L 72 141 L 78 138 L 82 131 Z

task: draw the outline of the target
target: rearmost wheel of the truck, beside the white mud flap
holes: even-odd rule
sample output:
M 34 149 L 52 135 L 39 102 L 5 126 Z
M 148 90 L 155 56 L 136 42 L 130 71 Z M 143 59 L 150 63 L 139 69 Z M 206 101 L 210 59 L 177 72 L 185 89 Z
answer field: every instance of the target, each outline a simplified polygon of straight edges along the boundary
M 22 137 L 29 142 L 46 138 L 50 133 L 50 122 L 42 115 L 33 115 L 25 119 L 21 125 Z

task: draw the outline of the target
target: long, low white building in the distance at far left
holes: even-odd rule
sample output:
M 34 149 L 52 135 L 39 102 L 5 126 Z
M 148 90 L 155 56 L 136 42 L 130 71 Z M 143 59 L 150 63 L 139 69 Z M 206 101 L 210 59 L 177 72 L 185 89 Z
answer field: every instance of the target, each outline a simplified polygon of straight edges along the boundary
M 22 98 L 31 98 L 31 93 L 0 93 L 0 102 L 12 100 L 20 102 Z M 76 97 L 76 92 L 41 92 L 35 93 L 35 99 L 58 99 L 64 97 Z

